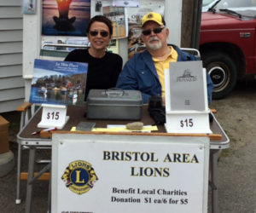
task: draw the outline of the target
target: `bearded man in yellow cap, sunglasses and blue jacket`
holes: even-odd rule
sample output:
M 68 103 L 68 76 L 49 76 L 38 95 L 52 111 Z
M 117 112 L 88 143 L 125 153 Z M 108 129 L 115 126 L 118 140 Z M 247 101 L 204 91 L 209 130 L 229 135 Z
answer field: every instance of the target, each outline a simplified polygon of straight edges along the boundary
M 166 96 L 164 70 L 170 62 L 196 60 L 194 55 L 183 52 L 176 46 L 168 46 L 169 30 L 160 14 L 150 12 L 142 19 L 142 40 L 147 50 L 128 60 L 119 75 L 116 87 L 137 89 L 143 94 L 143 103 L 152 95 Z M 207 74 L 208 103 L 212 101 L 212 80 Z

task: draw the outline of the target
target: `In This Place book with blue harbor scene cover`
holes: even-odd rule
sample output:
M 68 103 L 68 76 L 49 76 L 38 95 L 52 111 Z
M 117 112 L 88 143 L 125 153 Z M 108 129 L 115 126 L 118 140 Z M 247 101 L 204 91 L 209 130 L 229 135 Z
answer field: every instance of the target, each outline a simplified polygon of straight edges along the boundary
M 36 59 L 29 101 L 84 106 L 87 70 L 87 63 Z

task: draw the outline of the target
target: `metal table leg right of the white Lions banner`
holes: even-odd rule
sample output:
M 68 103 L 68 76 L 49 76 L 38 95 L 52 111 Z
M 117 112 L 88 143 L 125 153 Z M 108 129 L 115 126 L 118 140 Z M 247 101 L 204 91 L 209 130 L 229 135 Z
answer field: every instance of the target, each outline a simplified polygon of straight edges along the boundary
M 218 154 L 219 150 L 211 152 L 212 157 L 212 213 L 218 213 Z

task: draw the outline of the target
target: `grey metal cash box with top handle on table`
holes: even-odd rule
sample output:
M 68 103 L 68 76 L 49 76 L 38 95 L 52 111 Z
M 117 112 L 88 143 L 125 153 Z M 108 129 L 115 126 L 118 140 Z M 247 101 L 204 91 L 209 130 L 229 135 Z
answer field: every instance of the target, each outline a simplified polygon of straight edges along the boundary
M 87 118 L 140 120 L 143 98 L 140 91 L 90 89 L 87 96 Z

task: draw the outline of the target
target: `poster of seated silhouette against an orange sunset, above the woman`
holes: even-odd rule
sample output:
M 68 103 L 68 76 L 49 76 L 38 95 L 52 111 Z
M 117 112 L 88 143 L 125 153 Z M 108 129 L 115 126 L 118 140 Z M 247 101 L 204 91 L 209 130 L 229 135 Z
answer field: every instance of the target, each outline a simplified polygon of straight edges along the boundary
M 90 0 L 43 0 L 42 35 L 86 36 Z

